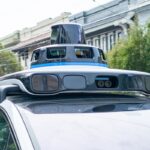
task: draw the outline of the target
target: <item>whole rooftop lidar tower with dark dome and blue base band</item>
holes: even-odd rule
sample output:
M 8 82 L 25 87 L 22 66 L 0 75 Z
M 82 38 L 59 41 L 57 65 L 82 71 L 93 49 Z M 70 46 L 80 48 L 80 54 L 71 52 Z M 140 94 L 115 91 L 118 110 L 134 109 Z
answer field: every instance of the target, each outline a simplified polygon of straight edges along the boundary
M 51 29 L 51 45 L 33 51 L 31 69 L 62 65 L 107 67 L 103 50 L 86 44 L 81 25 L 57 24 Z

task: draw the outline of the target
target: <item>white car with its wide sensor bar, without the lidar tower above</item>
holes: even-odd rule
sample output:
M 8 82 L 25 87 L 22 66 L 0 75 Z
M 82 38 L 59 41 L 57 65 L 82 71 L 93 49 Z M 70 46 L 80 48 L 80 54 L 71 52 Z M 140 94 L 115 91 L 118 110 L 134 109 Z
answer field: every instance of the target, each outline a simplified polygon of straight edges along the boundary
M 150 150 L 150 74 L 53 66 L 0 78 L 0 150 Z

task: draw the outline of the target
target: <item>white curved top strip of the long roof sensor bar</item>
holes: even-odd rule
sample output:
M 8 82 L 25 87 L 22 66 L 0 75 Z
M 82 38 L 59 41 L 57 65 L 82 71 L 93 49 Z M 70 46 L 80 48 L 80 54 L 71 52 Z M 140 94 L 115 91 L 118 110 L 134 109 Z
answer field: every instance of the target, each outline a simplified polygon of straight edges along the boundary
M 106 67 L 101 67 L 101 66 L 87 66 L 87 65 L 69 65 L 69 66 L 51 66 L 51 67 L 43 67 L 43 68 L 33 68 L 29 70 L 23 70 L 20 72 L 15 72 L 12 74 L 5 75 L 3 77 L 7 76 L 12 76 L 12 75 L 17 75 L 17 74 L 25 74 L 25 73 L 42 73 L 42 72 L 47 72 L 47 73 L 63 73 L 63 72 L 72 72 L 72 73 L 111 73 L 111 74 L 138 74 L 138 75 L 150 75 L 150 73 L 147 72 L 141 72 L 141 71 L 131 71 L 131 70 L 121 70 L 121 69 L 109 69 Z M 0 78 L 0 79 L 3 79 Z

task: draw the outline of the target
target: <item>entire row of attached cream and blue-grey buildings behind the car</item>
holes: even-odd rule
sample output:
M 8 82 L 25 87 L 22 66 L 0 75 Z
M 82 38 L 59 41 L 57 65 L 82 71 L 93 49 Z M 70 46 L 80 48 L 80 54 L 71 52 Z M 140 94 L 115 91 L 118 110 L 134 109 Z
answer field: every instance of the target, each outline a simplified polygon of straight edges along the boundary
M 24 68 L 30 68 L 32 51 L 50 44 L 51 26 L 54 24 L 72 22 L 83 25 L 87 44 L 108 52 L 120 38 L 127 36 L 135 18 L 140 25 L 150 21 L 150 0 L 114 0 L 74 15 L 65 12 L 3 37 L 0 43 L 17 53 Z

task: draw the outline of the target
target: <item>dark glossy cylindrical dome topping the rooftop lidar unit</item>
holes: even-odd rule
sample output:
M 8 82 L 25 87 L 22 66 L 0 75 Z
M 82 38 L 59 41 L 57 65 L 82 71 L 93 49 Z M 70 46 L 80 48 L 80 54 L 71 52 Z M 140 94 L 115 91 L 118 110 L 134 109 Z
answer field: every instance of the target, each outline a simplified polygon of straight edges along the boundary
M 79 24 L 57 24 L 51 29 L 51 44 L 86 44 L 83 27 Z

